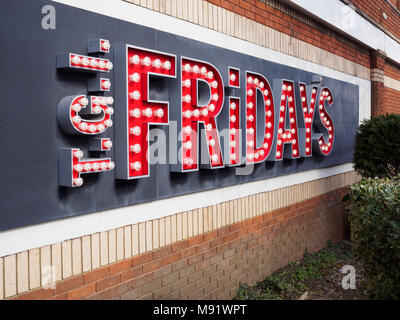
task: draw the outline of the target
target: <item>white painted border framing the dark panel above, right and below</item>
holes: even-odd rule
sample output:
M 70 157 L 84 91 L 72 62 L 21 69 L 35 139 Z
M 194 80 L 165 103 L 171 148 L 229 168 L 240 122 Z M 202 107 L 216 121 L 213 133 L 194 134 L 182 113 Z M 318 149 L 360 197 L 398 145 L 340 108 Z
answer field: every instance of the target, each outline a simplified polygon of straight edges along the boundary
M 284 62 L 288 66 L 300 68 L 323 76 L 336 78 L 359 85 L 360 120 L 371 114 L 370 82 L 327 67 L 285 55 L 256 44 L 223 35 L 216 31 L 157 13 L 120 0 L 56 0 L 78 8 L 97 12 L 121 20 L 171 32 L 180 36 L 196 38 L 199 41 L 224 47 L 233 51 Z M 324 1 L 325 2 L 325 1 Z M 161 218 L 173 213 L 201 208 L 240 197 L 279 189 L 307 181 L 349 172 L 352 164 L 300 172 L 263 181 L 229 186 L 212 191 L 203 191 L 174 198 L 163 199 L 78 217 L 42 223 L 15 230 L 0 232 L 0 257 L 24 250 L 45 246 L 66 239 L 80 237 L 137 222 Z

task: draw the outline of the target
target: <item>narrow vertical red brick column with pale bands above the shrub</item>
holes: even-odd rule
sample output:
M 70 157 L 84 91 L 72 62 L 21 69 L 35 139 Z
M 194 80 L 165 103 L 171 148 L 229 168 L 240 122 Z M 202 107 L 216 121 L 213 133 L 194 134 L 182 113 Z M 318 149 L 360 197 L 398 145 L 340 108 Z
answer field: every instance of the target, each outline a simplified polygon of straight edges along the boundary
M 384 113 L 385 100 L 385 59 L 383 51 L 371 51 L 371 116 Z

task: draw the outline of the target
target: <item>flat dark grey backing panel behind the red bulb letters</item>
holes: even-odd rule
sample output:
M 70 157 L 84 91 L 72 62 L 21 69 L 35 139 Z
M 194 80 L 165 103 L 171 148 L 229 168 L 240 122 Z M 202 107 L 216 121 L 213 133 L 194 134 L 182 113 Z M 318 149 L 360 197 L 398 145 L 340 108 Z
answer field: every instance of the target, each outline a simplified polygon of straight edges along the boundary
M 52 4 L 56 8 L 56 30 L 43 30 L 41 9 Z M 157 23 L 155 21 L 154 23 Z M 80 148 L 87 156 L 89 138 L 65 134 L 56 119 L 57 105 L 66 96 L 87 94 L 87 81 L 94 74 L 56 69 L 56 56 L 62 53 L 87 54 L 90 39 L 111 41 L 110 59 L 115 69 L 106 76 L 112 81 L 110 95 L 114 108 L 123 101 L 116 86 L 124 85 L 124 75 L 117 72 L 122 61 L 113 57 L 113 49 L 126 44 L 208 61 L 220 71 L 225 85 L 228 66 L 239 68 L 240 82 L 245 84 L 245 71 L 264 75 L 273 85 L 274 79 L 289 79 L 310 84 L 312 73 L 271 63 L 268 57 L 257 59 L 225 48 L 179 37 L 151 28 L 112 19 L 73 7 L 41 0 L 2 0 L 0 2 L 0 230 L 107 210 L 135 203 L 188 194 L 261 180 L 290 173 L 329 167 L 352 161 L 354 137 L 358 124 L 358 87 L 324 77 L 323 85 L 333 92 L 335 104 L 329 113 L 335 121 L 335 145 L 329 157 L 264 162 L 248 176 L 235 175 L 235 168 L 174 173 L 169 165 L 151 166 L 148 178 L 116 180 L 114 172 L 83 175 L 79 188 L 59 187 L 57 181 L 57 149 Z M 176 79 L 168 79 L 170 120 L 180 122 L 180 68 Z M 296 89 L 297 90 L 297 89 Z M 244 88 L 230 89 L 230 95 L 242 102 L 245 115 Z M 274 91 L 279 101 L 279 90 Z M 296 91 L 297 105 L 300 105 Z M 275 105 L 277 112 L 279 106 Z M 115 117 L 114 117 L 115 119 Z M 218 117 L 218 128 L 229 124 L 228 100 Z M 303 119 L 298 117 L 298 122 Z M 156 127 L 156 126 L 154 126 Z M 168 126 L 158 126 L 165 131 Z M 118 123 L 97 137 L 114 139 Z M 173 143 L 175 143 L 173 141 Z M 168 150 L 168 148 L 167 148 Z M 103 156 L 114 157 L 114 150 Z M 118 165 L 118 163 L 117 163 Z M 132 210 L 132 214 L 135 213 Z

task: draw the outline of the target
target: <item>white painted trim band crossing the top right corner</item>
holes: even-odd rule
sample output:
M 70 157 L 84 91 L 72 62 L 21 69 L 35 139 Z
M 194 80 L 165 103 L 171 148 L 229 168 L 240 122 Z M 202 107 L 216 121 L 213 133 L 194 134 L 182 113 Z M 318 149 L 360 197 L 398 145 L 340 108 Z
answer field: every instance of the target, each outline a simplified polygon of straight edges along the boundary
M 302 8 L 318 19 L 322 19 L 348 36 L 361 41 L 366 46 L 375 50 L 382 50 L 387 54 L 388 58 L 400 63 L 400 43 L 356 13 L 354 9 L 342 1 L 286 1 Z M 344 15 L 349 9 L 354 11 L 354 21 L 351 23 L 344 20 Z

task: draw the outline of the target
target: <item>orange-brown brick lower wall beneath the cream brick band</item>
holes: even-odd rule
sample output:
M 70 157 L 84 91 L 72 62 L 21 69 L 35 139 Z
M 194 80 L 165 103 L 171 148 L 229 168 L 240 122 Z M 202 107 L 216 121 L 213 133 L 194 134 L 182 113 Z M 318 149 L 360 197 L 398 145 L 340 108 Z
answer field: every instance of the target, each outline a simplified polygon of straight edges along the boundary
M 13 299 L 230 299 L 346 236 L 346 189 L 227 225 Z

